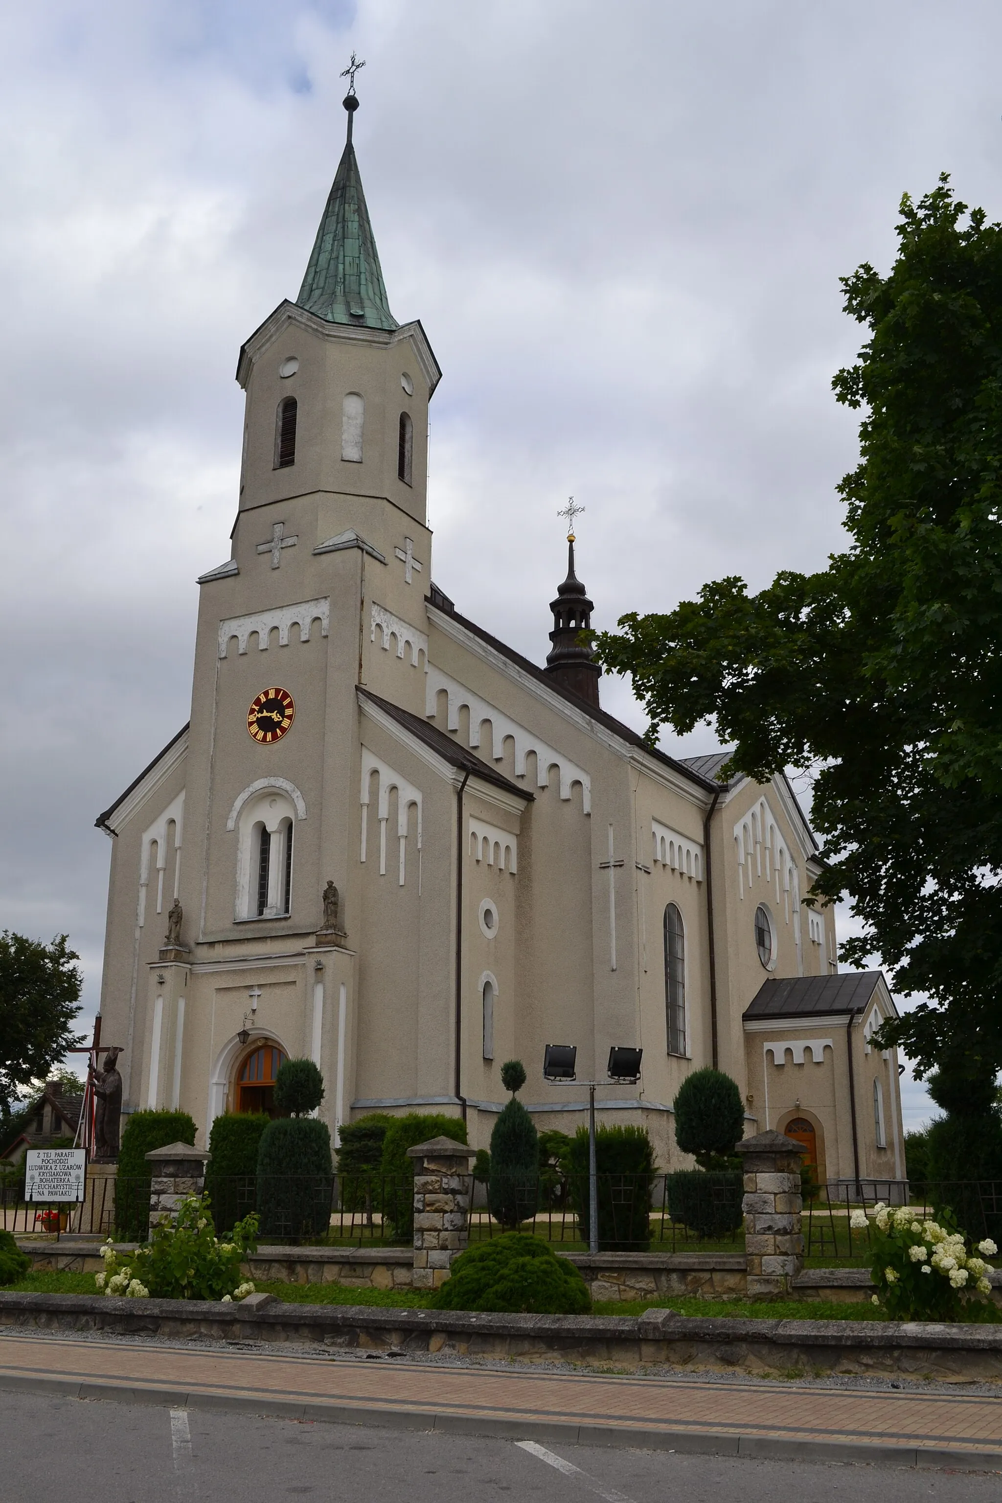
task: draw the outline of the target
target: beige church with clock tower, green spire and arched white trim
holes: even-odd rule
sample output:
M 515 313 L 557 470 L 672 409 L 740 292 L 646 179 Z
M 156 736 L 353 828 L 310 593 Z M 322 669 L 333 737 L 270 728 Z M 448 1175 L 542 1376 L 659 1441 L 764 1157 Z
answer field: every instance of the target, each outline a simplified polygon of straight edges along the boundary
M 599 1121 L 646 1127 L 669 1169 L 672 1102 L 712 1064 L 747 1135 L 789 1132 L 822 1181 L 903 1180 L 897 1057 L 868 1042 L 894 1001 L 837 969 L 786 777 L 721 782 L 726 753 L 667 756 L 601 708 L 572 508 L 542 666 L 433 582 L 442 373 L 389 308 L 358 104 L 299 296 L 240 350 L 239 510 L 198 580 L 191 720 L 96 821 L 123 1109 L 182 1108 L 204 1144 L 309 1057 L 335 1139 L 446 1111 L 485 1147 L 520 1058 L 539 1127 L 574 1132 L 599 1081 Z M 548 1043 L 577 1046 L 575 1084 L 544 1081 Z M 613 1046 L 643 1049 L 635 1084 L 607 1081 Z

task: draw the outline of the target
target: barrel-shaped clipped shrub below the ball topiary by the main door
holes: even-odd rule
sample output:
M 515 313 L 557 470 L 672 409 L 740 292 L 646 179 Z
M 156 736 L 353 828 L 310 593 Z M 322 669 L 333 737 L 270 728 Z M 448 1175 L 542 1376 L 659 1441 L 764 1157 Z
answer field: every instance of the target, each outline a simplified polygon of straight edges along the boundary
M 257 1150 L 261 1238 L 302 1241 L 330 1226 L 330 1130 L 317 1117 L 276 1117 Z

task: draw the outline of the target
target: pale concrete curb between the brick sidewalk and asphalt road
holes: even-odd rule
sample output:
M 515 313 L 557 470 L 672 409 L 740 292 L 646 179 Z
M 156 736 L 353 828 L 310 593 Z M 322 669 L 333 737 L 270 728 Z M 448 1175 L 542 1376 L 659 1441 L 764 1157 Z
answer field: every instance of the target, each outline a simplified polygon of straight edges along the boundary
M 915 1470 L 1002 1473 L 1002 1452 L 952 1446 L 891 1446 L 874 1441 L 810 1440 L 807 1437 L 745 1435 L 741 1431 L 652 1429 L 628 1425 L 575 1425 L 536 1419 L 490 1419 L 479 1414 L 385 1408 L 374 1404 L 318 1404 L 300 1399 L 248 1398 L 156 1384 L 102 1383 L 0 1372 L 0 1392 L 39 1393 L 53 1398 L 96 1399 L 113 1404 L 153 1404 L 164 1408 L 215 1410 L 230 1414 L 312 1420 L 320 1425 L 374 1425 L 386 1429 L 437 1431 L 443 1435 L 485 1435 L 499 1440 L 551 1441 L 557 1446 L 608 1446 L 631 1450 L 669 1450 L 699 1456 L 747 1456 L 769 1461 L 849 1462 Z

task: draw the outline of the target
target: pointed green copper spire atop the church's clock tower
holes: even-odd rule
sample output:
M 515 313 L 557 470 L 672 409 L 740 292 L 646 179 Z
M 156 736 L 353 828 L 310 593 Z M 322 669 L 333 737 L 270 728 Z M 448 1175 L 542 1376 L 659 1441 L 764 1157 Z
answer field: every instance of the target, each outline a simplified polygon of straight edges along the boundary
M 389 331 L 400 325 L 386 302 L 376 236 L 352 146 L 352 120 L 358 107 L 355 87 L 350 87 L 344 99 L 349 138 L 296 304 L 327 323 L 356 323 L 364 329 Z

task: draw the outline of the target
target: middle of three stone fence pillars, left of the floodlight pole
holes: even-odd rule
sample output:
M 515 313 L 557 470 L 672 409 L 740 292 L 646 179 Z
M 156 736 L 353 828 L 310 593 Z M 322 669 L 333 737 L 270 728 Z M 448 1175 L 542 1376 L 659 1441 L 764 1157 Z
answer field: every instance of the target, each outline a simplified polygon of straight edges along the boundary
M 437 1290 L 449 1278 L 470 1235 L 473 1175 L 467 1148 L 452 1138 L 431 1138 L 407 1150 L 415 1159 L 415 1288 Z

